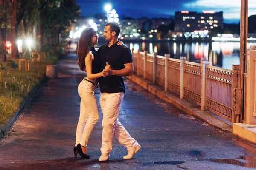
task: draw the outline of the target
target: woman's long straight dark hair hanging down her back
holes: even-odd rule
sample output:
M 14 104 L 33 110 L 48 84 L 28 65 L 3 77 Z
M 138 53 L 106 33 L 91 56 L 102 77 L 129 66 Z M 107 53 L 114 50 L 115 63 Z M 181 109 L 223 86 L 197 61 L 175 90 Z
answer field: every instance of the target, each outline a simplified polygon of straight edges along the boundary
M 93 28 L 86 28 L 82 31 L 78 40 L 77 57 L 78 65 L 81 71 L 85 69 L 85 57 L 91 48 L 92 37 L 97 34 Z

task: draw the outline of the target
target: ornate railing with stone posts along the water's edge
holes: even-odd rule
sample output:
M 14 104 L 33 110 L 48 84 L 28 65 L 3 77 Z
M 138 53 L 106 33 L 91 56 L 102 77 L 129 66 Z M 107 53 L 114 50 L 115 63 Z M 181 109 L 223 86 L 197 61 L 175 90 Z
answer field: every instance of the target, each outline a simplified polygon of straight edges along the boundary
M 199 64 L 186 61 L 186 57 L 172 59 L 169 54 L 140 50 L 132 50 L 132 54 L 137 75 L 231 121 L 232 70 L 209 66 L 207 60 Z

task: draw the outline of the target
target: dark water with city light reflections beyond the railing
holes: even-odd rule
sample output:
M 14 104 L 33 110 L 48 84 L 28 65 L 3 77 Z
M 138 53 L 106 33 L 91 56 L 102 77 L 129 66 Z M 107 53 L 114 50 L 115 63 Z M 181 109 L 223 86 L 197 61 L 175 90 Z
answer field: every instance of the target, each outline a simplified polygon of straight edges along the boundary
M 239 64 L 239 42 L 135 42 L 125 45 L 135 51 L 140 49 L 161 56 L 170 54 L 175 59 L 184 56 L 190 62 L 200 63 L 201 59 L 207 59 L 209 65 L 227 69 L 232 69 L 233 64 Z

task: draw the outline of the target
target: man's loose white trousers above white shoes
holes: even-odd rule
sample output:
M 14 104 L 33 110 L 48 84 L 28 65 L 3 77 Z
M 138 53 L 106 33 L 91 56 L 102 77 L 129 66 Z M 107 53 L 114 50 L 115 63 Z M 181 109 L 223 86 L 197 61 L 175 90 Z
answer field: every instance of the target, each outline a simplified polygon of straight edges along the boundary
M 101 93 L 100 106 L 103 113 L 102 120 L 102 153 L 110 153 L 112 148 L 113 136 L 127 148 L 132 150 L 138 145 L 138 142 L 132 138 L 125 130 L 125 127 L 118 120 L 119 110 L 124 98 L 124 93 Z

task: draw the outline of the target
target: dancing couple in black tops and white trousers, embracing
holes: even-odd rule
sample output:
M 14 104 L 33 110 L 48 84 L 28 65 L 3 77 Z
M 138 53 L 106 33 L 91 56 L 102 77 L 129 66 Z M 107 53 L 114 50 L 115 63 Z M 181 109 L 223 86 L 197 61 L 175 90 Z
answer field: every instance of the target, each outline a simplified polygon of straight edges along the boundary
M 81 97 L 80 116 L 76 129 L 75 157 L 77 153 L 82 159 L 89 159 L 87 142 L 94 125 L 99 119 L 94 91 L 99 82 L 100 106 L 103 113 L 102 146 L 99 161 L 107 161 L 112 150 L 113 136 L 125 146 L 128 154 L 123 159 L 131 159 L 140 150 L 138 142 L 125 130 L 118 120 L 119 110 L 125 94 L 122 76 L 133 74 L 133 60 L 129 48 L 118 41 L 120 26 L 116 22 L 106 23 L 103 37 L 107 44 L 98 51 L 94 45 L 98 43 L 98 36 L 93 28 L 82 31 L 78 42 L 78 65 L 87 72 L 78 86 Z

